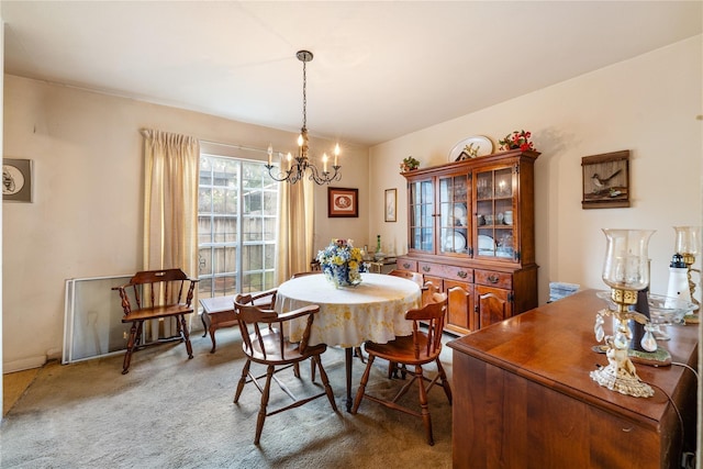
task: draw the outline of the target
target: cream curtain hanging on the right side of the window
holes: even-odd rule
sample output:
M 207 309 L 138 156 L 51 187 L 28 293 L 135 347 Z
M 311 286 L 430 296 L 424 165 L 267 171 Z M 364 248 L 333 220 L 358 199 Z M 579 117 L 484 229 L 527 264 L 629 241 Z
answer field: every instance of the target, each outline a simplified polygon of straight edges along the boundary
M 295 272 L 310 270 L 313 253 L 314 185 L 308 178 L 294 185 L 280 182 L 278 242 L 276 252 L 277 284 Z

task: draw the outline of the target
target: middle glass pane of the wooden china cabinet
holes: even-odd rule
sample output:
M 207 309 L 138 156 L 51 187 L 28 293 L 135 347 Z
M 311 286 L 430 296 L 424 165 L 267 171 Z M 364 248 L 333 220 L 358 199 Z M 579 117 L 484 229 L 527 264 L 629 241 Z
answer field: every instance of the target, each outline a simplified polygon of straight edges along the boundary
M 469 213 L 468 213 L 468 176 L 448 176 L 438 179 L 439 208 L 437 242 L 442 254 L 470 254 Z

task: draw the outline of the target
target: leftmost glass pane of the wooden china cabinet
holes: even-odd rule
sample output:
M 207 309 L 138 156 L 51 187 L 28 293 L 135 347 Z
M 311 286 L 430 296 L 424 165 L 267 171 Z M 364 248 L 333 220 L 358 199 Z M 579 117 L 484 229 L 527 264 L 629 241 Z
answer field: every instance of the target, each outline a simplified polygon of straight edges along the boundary
M 432 179 L 408 185 L 410 250 L 434 253 L 434 190 Z

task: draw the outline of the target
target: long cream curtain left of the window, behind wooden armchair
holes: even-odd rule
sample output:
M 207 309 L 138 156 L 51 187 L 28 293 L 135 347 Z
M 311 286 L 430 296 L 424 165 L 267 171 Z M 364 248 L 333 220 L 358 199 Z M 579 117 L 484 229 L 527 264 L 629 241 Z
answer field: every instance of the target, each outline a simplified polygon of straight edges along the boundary
M 198 276 L 198 178 L 200 143 L 197 138 L 156 130 L 144 135 L 144 270 L 180 268 Z M 153 324 L 145 335 L 176 334 L 176 323 Z

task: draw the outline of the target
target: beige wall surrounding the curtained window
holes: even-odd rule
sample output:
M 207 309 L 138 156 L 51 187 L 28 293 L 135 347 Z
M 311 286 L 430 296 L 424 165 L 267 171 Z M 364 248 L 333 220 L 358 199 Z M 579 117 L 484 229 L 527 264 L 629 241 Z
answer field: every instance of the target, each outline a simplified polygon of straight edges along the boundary
M 3 204 L 4 372 L 60 356 L 66 279 L 141 268 L 140 129 L 294 148 L 295 133 L 15 76 L 4 80 L 4 154 L 33 159 L 35 168 L 34 203 Z M 311 127 L 314 132 L 314 123 Z M 368 150 L 342 144 L 343 179 L 335 186 L 359 188 L 361 216 L 327 219 L 326 187 L 317 187 L 316 248 L 333 236 L 366 242 L 369 231 Z M 331 147 L 332 142 L 311 139 L 312 152 Z

